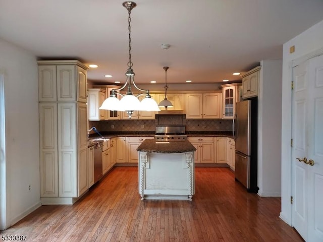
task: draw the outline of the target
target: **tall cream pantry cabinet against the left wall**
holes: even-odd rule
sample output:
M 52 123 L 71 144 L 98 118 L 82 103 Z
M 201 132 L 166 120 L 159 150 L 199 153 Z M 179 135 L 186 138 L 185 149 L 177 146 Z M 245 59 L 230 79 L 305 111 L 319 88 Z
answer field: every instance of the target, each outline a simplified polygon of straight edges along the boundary
M 38 61 L 43 204 L 73 204 L 87 191 L 86 70 L 78 61 Z

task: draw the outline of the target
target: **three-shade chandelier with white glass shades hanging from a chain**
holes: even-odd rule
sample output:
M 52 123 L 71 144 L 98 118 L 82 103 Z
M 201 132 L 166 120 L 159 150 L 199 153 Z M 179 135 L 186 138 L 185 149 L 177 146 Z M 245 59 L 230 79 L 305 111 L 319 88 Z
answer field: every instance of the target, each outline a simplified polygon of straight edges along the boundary
M 106 109 L 106 110 L 112 110 L 112 111 L 126 111 L 129 115 L 128 117 L 131 118 L 131 115 L 134 111 L 160 111 L 157 103 L 155 100 L 151 98 L 149 95 L 149 90 L 140 89 L 134 80 L 135 73 L 132 69 L 132 62 L 131 62 L 131 17 L 130 13 L 133 8 L 137 6 L 134 2 L 124 2 L 123 7 L 125 7 L 128 10 L 128 30 L 129 30 L 129 62 L 128 62 L 128 69 L 126 71 L 126 83 L 124 86 L 122 86 L 119 89 L 113 89 L 111 91 L 110 97 L 106 98 L 102 105 L 99 107 L 99 109 Z M 141 91 L 142 93 L 138 94 L 137 96 L 134 96 L 131 91 L 131 85 Z M 127 86 L 128 85 L 128 86 Z M 119 91 L 123 90 L 127 87 L 126 94 L 122 94 Z M 122 98 L 119 100 L 117 98 L 117 95 L 120 95 Z M 145 97 L 142 99 L 142 101 L 139 101 L 139 97 L 145 95 Z

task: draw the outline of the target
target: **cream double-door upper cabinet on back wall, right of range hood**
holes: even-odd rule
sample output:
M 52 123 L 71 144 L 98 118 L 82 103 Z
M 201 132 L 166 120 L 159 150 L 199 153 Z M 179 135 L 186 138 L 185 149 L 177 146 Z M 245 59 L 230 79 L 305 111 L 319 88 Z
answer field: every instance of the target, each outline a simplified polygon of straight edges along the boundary
M 187 93 L 186 118 L 221 118 L 222 93 Z

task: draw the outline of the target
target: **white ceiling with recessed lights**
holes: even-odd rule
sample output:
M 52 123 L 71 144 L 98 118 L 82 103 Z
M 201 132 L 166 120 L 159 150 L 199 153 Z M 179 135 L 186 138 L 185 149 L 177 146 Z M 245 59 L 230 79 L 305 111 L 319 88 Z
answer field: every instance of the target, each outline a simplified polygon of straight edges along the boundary
M 117 0 L 10 0 L 0 3 L 0 38 L 38 58 L 97 64 L 95 82 L 125 82 L 128 12 Z M 323 19 L 322 0 L 135 0 L 132 62 L 137 84 L 239 80 L 262 59 Z M 160 44 L 170 44 L 168 50 Z M 297 46 L 296 46 L 297 48 Z M 113 75 L 107 79 L 105 74 Z

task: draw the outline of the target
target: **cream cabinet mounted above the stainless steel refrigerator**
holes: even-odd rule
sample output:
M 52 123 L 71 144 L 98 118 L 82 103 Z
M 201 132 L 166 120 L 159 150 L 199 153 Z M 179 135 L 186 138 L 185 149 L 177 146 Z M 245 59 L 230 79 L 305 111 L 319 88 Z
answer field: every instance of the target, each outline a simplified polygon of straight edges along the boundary
M 261 67 L 256 67 L 249 72 L 241 75 L 242 77 L 242 98 L 258 96 L 258 82 L 260 78 Z

